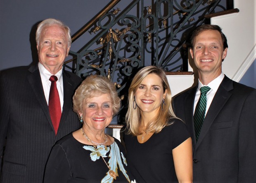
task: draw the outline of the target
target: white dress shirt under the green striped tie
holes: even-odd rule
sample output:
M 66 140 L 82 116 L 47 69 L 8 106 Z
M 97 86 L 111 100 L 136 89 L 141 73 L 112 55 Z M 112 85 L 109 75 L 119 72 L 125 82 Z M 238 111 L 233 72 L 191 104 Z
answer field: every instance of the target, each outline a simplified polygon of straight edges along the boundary
M 224 74 L 223 74 L 223 72 L 221 72 L 221 74 L 216 79 L 213 79 L 213 81 L 211 81 L 208 85 L 203 85 L 201 83 L 201 81 L 199 81 L 199 79 L 198 79 L 197 93 L 196 93 L 196 96 L 194 98 L 194 111 L 196 109 L 197 102 L 198 102 L 199 97 L 201 95 L 200 88 L 202 86 L 209 86 L 211 88 L 211 90 L 209 90 L 207 92 L 207 94 L 206 94 L 206 110 L 205 110 L 205 116 L 206 116 L 207 111 L 208 111 L 208 109 L 209 109 L 209 107 L 211 105 L 211 102 L 213 101 L 213 97 L 216 94 L 216 92 L 217 92 L 217 90 L 218 90 L 218 88 L 220 86 L 220 83 L 222 82 L 223 78 L 224 78 Z M 193 114 L 194 114 L 194 112 L 193 112 Z

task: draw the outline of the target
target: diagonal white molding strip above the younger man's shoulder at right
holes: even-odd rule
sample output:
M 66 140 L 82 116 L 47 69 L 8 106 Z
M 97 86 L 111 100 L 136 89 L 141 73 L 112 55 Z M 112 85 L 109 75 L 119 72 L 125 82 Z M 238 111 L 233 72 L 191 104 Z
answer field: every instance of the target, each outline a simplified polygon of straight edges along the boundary
M 250 53 L 245 58 L 242 65 L 237 69 L 237 72 L 232 77 L 232 80 L 239 82 L 244 76 L 244 74 L 247 72 L 251 64 L 254 62 L 254 60 L 256 60 L 256 44 L 254 44 L 254 47 L 251 49 Z

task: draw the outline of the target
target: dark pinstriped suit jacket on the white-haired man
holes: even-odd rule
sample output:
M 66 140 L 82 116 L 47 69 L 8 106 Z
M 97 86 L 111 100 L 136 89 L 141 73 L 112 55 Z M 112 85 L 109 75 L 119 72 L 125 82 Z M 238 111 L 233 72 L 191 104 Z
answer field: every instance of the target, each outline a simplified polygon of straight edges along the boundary
M 64 104 L 55 136 L 38 67 L 16 67 L 1 72 L 0 155 L 4 152 L 1 161 L 4 183 L 43 182 L 52 146 L 81 126 L 72 111 L 72 96 L 80 82 L 81 78 L 75 74 L 63 71 Z

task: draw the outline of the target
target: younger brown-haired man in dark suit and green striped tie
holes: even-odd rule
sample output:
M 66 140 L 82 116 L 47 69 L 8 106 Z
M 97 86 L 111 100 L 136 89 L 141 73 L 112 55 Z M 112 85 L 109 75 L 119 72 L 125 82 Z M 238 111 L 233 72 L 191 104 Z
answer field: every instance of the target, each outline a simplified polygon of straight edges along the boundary
M 193 141 L 194 183 L 255 183 L 256 90 L 222 72 L 227 39 L 218 25 L 192 33 L 196 87 L 175 97 Z

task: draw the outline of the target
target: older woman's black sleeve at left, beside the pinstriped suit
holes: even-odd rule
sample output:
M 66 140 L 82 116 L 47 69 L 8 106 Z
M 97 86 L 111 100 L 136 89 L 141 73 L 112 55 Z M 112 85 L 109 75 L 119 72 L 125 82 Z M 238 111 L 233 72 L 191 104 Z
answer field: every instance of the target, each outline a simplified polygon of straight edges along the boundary
M 61 145 L 52 148 L 45 167 L 44 183 L 66 183 L 71 178 L 69 161 Z

